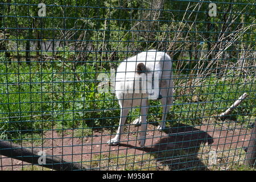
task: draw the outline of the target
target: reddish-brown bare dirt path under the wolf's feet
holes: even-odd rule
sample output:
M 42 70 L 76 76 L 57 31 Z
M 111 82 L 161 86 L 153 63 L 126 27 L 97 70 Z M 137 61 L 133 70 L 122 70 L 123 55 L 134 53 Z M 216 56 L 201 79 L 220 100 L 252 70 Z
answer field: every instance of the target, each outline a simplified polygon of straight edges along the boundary
M 128 129 L 126 128 L 126 130 Z M 65 132 L 64 135 L 56 131 L 47 131 L 44 133 L 43 144 L 39 144 L 36 149 L 42 150 L 43 148 L 47 155 L 63 157 L 68 162 L 85 162 L 92 165 L 90 161 L 98 159 L 98 156 L 102 156 L 101 160 L 104 156 L 108 158 L 108 156 L 151 154 L 158 159 L 159 156 L 163 156 L 162 154 L 167 156 L 167 153 L 164 152 L 168 151 L 170 154 L 170 151 L 188 149 L 192 150 L 190 155 L 196 155 L 202 145 L 210 147 L 211 150 L 225 151 L 230 148 L 247 146 L 250 139 L 249 131 L 220 129 L 215 125 L 201 125 L 199 127 L 179 125 L 164 132 L 156 131 L 155 126 L 148 125 L 146 144 L 144 147 L 139 147 L 136 140 L 137 130 L 138 127 L 130 126 L 129 132 L 126 131 L 127 134 L 123 135 L 123 141 L 118 146 L 109 146 L 106 143 L 110 137 L 114 137 L 114 133 L 110 135 L 109 131 L 93 131 L 91 137 L 83 138 L 72 137 L 72 130 Z M 24 143 L 23 147 L 25 146 L 29 146 L 29 143 Z M 94 162 L 94 167 L 99 163 L 99 161 Z M 28 163 L 20 160 L 0 156 L 1 170 L 22 170 L 26 169 L 27 165 Z

